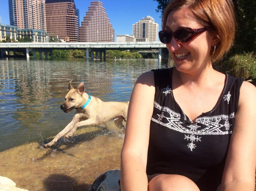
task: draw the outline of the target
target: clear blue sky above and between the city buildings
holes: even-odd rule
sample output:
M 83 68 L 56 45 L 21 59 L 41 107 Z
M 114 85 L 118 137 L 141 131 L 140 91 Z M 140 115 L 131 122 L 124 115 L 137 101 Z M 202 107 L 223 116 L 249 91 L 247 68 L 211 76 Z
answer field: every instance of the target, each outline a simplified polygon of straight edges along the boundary
M 10 24 L 8 0 L 0 0 L 0 16 L 3 24 Z M 85 12 L 88 11 L 90 0 L 75 0 L 76 8 L 80 10 L 80 22 L 83 21 Z M 132 35 L 132 24 L 146 16 L 151 16 L 161 30 L 161 13 L 156 12 L 157 2 L 153 0 L 101 0 L 108 13 L 113 28 L 115 39 L 118 34 Z

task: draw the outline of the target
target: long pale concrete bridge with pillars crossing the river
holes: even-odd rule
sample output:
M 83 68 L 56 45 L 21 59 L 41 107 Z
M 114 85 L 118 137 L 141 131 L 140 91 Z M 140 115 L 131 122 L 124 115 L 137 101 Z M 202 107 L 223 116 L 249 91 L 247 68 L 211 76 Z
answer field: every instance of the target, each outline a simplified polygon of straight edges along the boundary
M 36 58 L 36 52 L 39 52 L 39 57 L 42 58 L 42 52 L 45 52 L 47 58 L 50 52 L 52 58 L 53 49 L 84 49 L 86 50 L 86 59 L 93 59 L 94 52 L 99 55 L 100 60 L 106 59 L 106 50 L 123 50 L 123 49 L 143 49 L 143 50 L 158 50 L 158 59 L 168 60 L 168 50 L 166 45 L 161 42 L 47 42 L 47 43 L 0 43 L 0 57 L 10 56 L 10 51 L 13 51 L 13 56 L 16 57 L 16 52 L 24 52 L 29 58 L 29 52 L 33 52 L 33 57 Z

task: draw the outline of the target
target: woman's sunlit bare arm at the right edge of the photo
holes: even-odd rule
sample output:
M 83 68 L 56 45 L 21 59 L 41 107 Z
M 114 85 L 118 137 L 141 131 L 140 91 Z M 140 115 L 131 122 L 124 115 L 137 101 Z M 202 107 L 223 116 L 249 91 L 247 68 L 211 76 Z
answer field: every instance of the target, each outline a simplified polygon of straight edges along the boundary
M 243 82 L 221 191 L 254 191 L 256 166 L 256 88 Z

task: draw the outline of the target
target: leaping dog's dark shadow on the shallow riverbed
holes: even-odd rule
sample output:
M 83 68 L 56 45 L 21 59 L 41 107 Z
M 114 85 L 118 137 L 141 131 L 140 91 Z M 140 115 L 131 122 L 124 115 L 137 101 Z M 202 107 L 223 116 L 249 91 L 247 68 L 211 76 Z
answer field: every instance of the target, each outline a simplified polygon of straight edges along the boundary
M 65 154 L 65 155 L 68 155 L 68 156 L 71 156 L 71 157 L 79 158 L 75 155 L 72 155 L 71 153 L 65 152 L 65 150 L 68 150 L 68 149 L 76 146 L 79 143 L 92 141 L 97 136 L 108 135 L 112 132 L 113 132 L 113 130 L 103 128 L 103 129 L 98 130 L 98 131 L 93 131 L 93 132 L 88 132 L 88 133 L 84 133 L 84 134 L 75 135 L 71 138 L 61 137 L 60 140 L 57 143 L 53 144 L 50 148 L 46 149 L 46 150 L 48 150 L 48 152 L 46 152 L 40 158 L 35 158 L 35 161 L 43 160 L 44 158 L 51 156 L 52 152 L 55 152 L 55 151 L 61 152 L 62 154 Z M 52 141 L 52 138 L 45 140 L 43 144 L 49 143 L 50 141 Z M 38 149 L 40 149 L 42 147 L 43 147 L 43 145 L 38 147 Z

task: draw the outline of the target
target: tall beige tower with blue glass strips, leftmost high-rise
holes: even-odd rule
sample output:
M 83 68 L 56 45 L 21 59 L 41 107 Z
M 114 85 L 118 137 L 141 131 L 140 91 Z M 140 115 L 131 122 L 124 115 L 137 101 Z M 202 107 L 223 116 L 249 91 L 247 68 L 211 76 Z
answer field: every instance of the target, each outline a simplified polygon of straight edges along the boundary
M 46 31 L 45 0 L 8 0 L 10 25 Z

